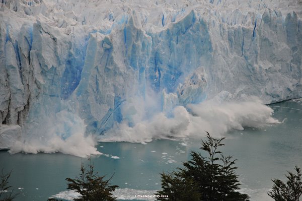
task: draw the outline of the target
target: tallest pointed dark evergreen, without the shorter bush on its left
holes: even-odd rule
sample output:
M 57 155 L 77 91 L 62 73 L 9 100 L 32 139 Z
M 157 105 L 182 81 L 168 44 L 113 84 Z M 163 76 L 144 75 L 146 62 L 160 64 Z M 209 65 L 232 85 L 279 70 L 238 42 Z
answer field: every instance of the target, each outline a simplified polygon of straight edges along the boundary
M 192 176 L 198 183 L 201 200 L 249 200 L 247 194 L 238 192 L 240 183 L 235 172 L 236 160 L 218 151 L 219 147 L 224 146 L 222 141 L 225 138 L 214 139 L 208 132 L 206 138 L 200 149 L 206 151 L 208 157 L 192 151 L 192 160 L 184 163 L 187 176 Z

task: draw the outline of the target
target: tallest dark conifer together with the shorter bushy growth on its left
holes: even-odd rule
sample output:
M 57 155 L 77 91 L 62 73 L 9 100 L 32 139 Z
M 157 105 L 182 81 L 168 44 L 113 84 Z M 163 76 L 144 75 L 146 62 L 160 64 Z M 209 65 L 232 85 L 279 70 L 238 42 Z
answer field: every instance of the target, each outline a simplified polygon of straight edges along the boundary
M 161 174 L 163 190 L 158 191 L 157 195 L 171 196 L 158 197 L 158 200 L 249 200 L 247 194 L 238 191 L 240 183 L 235 172 L 236 160 L 233 160 L 232 156 L 224 156 L 219 151 L 219 147 L 224 146 L 222 141 L 225 138 L 212 138 L 208 132 L 206 138 L 206 141 L 202 141 L 200 149 L 207 153 L 207 157 L 192 151 L 192 159 L 183 164 L 185 168 L 179 168 L 178 172 L 172 174 Z M 179 195 L 175 194 L 176 190 L 180 190 L 182 196 L 186 195 L 187 198 L 179 199 Z

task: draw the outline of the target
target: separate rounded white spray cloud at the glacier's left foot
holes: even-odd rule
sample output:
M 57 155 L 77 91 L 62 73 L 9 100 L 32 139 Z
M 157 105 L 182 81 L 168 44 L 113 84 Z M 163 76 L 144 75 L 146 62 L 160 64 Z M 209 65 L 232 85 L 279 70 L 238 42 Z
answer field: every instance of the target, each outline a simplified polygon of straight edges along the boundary
M 84 120 L 66 110 L 45 115 L 37 122 L 25 125 L 21 141 L 15 143 L 10 153 L 60 152 L 79 157 L 99 155 L 95 137 L 85 135 L 85 129 Z

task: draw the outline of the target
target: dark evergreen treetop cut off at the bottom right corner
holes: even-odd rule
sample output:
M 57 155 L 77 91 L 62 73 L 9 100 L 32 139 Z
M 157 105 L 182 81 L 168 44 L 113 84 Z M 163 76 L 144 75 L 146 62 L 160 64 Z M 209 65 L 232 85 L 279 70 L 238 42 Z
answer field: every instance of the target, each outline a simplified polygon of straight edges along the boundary
M 302 174 L 301 169 L 295 166 L 296 174 L 288 172 L 285 175 L 286 183 L 280 179 L 273 179 L 273 188 L 267 194 L 275 201 L 299 201 L 302 195 Z

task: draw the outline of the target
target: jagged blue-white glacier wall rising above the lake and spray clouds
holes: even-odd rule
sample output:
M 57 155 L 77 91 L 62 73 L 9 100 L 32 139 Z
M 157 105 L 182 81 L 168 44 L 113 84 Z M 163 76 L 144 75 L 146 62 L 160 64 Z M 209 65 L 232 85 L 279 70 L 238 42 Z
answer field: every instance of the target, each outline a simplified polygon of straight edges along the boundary
M 173 117 L 179 105 L 301 97 L 301 8 L 300 0 L 2 0 L 1 126 L 21 126 L 26 148 L 16 150 L 52 152 L 64 147 L 49 148 L 54 136 L 85 139 L 116 123 Z

